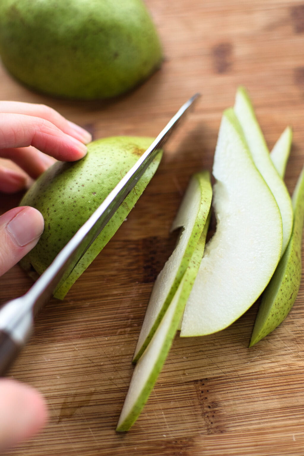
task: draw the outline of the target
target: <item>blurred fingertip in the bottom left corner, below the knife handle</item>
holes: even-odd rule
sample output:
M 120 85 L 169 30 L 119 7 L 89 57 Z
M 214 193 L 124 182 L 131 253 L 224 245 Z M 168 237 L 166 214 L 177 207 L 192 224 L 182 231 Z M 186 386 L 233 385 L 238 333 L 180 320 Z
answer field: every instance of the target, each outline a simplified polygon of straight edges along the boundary
M 36 434 L 46 424 L 45 400 L 25 384 L 0 379 L 0 453 Z

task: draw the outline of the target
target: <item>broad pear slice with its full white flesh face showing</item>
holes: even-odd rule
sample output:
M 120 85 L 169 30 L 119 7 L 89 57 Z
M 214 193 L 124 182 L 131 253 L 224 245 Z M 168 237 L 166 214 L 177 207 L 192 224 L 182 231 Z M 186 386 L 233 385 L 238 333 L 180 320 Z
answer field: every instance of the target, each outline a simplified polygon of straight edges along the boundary
M 278 264 L 278 205 L 253 163 L 233 109 L 222 117 L 213 163 L 216 232 L 185 307 L 181 337 L 220 331 L 261 295 Z

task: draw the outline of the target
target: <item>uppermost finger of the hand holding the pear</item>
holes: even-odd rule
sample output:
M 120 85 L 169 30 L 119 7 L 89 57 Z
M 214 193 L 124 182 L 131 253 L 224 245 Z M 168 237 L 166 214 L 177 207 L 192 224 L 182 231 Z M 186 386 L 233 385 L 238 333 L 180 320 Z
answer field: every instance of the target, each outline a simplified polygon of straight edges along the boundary
M 49 120 L 67 135 L 71 135 L 77 140 L 88 144 L 92 141 L 92 136 L 87 130 L 79 125 L 65 119 L 55 109 L 45 104 L 21 103 L 18 101 L 0 101 L 0 112 L 6 114 L 25 114 L 41 119 Z

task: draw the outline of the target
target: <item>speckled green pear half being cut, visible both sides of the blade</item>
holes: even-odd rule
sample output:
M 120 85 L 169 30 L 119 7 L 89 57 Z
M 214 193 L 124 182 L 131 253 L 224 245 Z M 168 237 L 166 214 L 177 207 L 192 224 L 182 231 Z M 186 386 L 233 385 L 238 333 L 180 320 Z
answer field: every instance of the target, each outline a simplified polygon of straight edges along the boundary
M 58 161 L 46 170 L 20 202 L 21 206 L 36 207 L 45 220 L 39 242 L 21 260 L 21 267 L 32 277 L 41 275 L 152 142 L 153 138 L 147 137 L 103 138 L 90 143 L 88 154 L 81 160 Z M 161 152 L 71 274 L 55 291 L 55 297 L 64 298 L 75 280 L 112 238 L 155 174 L 160 159 Z

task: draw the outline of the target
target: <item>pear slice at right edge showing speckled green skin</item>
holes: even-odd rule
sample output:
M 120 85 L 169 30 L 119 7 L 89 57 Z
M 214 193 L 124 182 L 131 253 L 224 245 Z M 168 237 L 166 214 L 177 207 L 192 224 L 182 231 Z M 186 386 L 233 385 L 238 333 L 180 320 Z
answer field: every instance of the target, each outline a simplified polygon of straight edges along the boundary
M 304 168 L 292 197 L 294 227 L 289 244 L 262 295 L 249 347 L 272 332 L 286 318 L 301 283 L 301 247 L 304 220 Z

